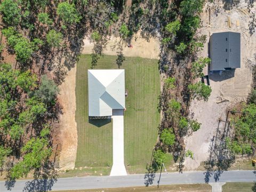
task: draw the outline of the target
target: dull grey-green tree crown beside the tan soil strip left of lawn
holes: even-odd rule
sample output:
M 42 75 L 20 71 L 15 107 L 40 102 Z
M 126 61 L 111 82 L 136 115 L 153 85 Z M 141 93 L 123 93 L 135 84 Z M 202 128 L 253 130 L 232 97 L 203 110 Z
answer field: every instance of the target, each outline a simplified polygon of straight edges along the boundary
M 39 89 L 34 91 L 31 95 L 40 98 L 46 106 L 52 106 L 55 104 L 58 93 L 58 86 L 55 85 L 51 79 L 47 78 L 46 75 L 43 75 Z

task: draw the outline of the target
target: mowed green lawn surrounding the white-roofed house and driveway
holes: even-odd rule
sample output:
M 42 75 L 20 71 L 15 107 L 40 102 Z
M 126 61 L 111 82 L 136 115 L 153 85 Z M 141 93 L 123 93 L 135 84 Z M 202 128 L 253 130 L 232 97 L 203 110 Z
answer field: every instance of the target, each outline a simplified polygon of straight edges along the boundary
M 116 56 L 103 55 L 95 69 L 118 69 Z M 113 155 L 112 123 L 101 127 L 89 123 L 87 69 L 91 68 L 91 56 L 81 55 L 76 74 L 76 122 L 78 148 L 76 167 L 111 168 Z M 125 69 L 124 154 L 129 172 L 145 172 L 152 149 L 157 141 L 160 77 L 157 60 L 126 57 L 121 69 Z M 106 173 L 107 174 L 107 173 Z

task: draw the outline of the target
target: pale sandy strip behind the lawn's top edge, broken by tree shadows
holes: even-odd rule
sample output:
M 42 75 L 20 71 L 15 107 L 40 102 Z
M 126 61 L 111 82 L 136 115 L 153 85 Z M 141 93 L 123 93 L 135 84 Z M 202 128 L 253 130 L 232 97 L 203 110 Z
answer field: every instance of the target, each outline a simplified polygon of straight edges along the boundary
M 103 54 L 117 55 L 117 43 L 120 41 L 119 37 L 111 36 Z M 133 36 L 130 43 L 133 47 L 129 48 L 126 45 L 123 46 L 123 54 L 127 57 L 142 57 L 149 59 L 158 59 L 160 51 L 160 42 L 158 38 L 149 37 L 149 40 L 142 38 L 140 33 Z M 93 43 L 90 42 L 90 38 L 84 39 L 83 54 L 91 54 L 93 49 Z

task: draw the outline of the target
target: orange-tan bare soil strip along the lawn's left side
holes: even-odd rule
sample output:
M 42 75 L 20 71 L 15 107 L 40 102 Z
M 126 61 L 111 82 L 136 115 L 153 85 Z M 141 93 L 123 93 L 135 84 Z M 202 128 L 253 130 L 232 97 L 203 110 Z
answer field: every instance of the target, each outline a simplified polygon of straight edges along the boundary
M 77 150 L 76 113 L 76 66 L 68 71 L 65 82 L 60 88 L 59 100 L 62 105 L 60 116 L 61 151 L 59 156 L 60 170 L 74 169 Z

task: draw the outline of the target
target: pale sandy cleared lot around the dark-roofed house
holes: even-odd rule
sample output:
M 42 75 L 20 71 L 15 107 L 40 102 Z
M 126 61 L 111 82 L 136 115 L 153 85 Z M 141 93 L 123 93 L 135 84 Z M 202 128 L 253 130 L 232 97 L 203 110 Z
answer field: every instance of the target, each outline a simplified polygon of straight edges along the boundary
M 247 4 L 242 0 L 231 11 L 223 9 L 222 1 L 219 3 L 215 1 L 214 5 L 207 5 L 207 7 L 211 7 L 211 14 L 204 11 L 202 14 L 203 27 L 199 31 L 201 34 L 207 35 L 202 57 L 207 57 L 208 54 L 209 35 L 222 31 L 237 31 L 241 33 L 241 68 L 236 69 L 234 73 L 232 71 L 210 73 L 212 93 L 209 100 L 207 102 L 196 100 L 191 102 L 190 115 L 194 116 L 202 125 L 200 130 L 185 139 L 186 149 L 190 149 L 194 153 L 194 159 L 189 157 L 185 159 L 186 170 L 196 169 L 201 162 L 206 161 L 209 157 L 211 139 L 217 129 L 219 118 L 225 120 L 227 107 L 246 100 L 252 83 L 250 66 L 251 63 L 255 63 L 253 54 L 256 51 L 256 35 L 250 36 L 249 34 L 252 12 L 249 14 Z M 220 8 L 219 13 L 214 14 L 217 7 Z M 227 25 L 228 17 L 231 19 L 231 28 Z M 237 20 L 239 26 L 236 26 Z M 204 72 L 208 73 L 207 68 Z

